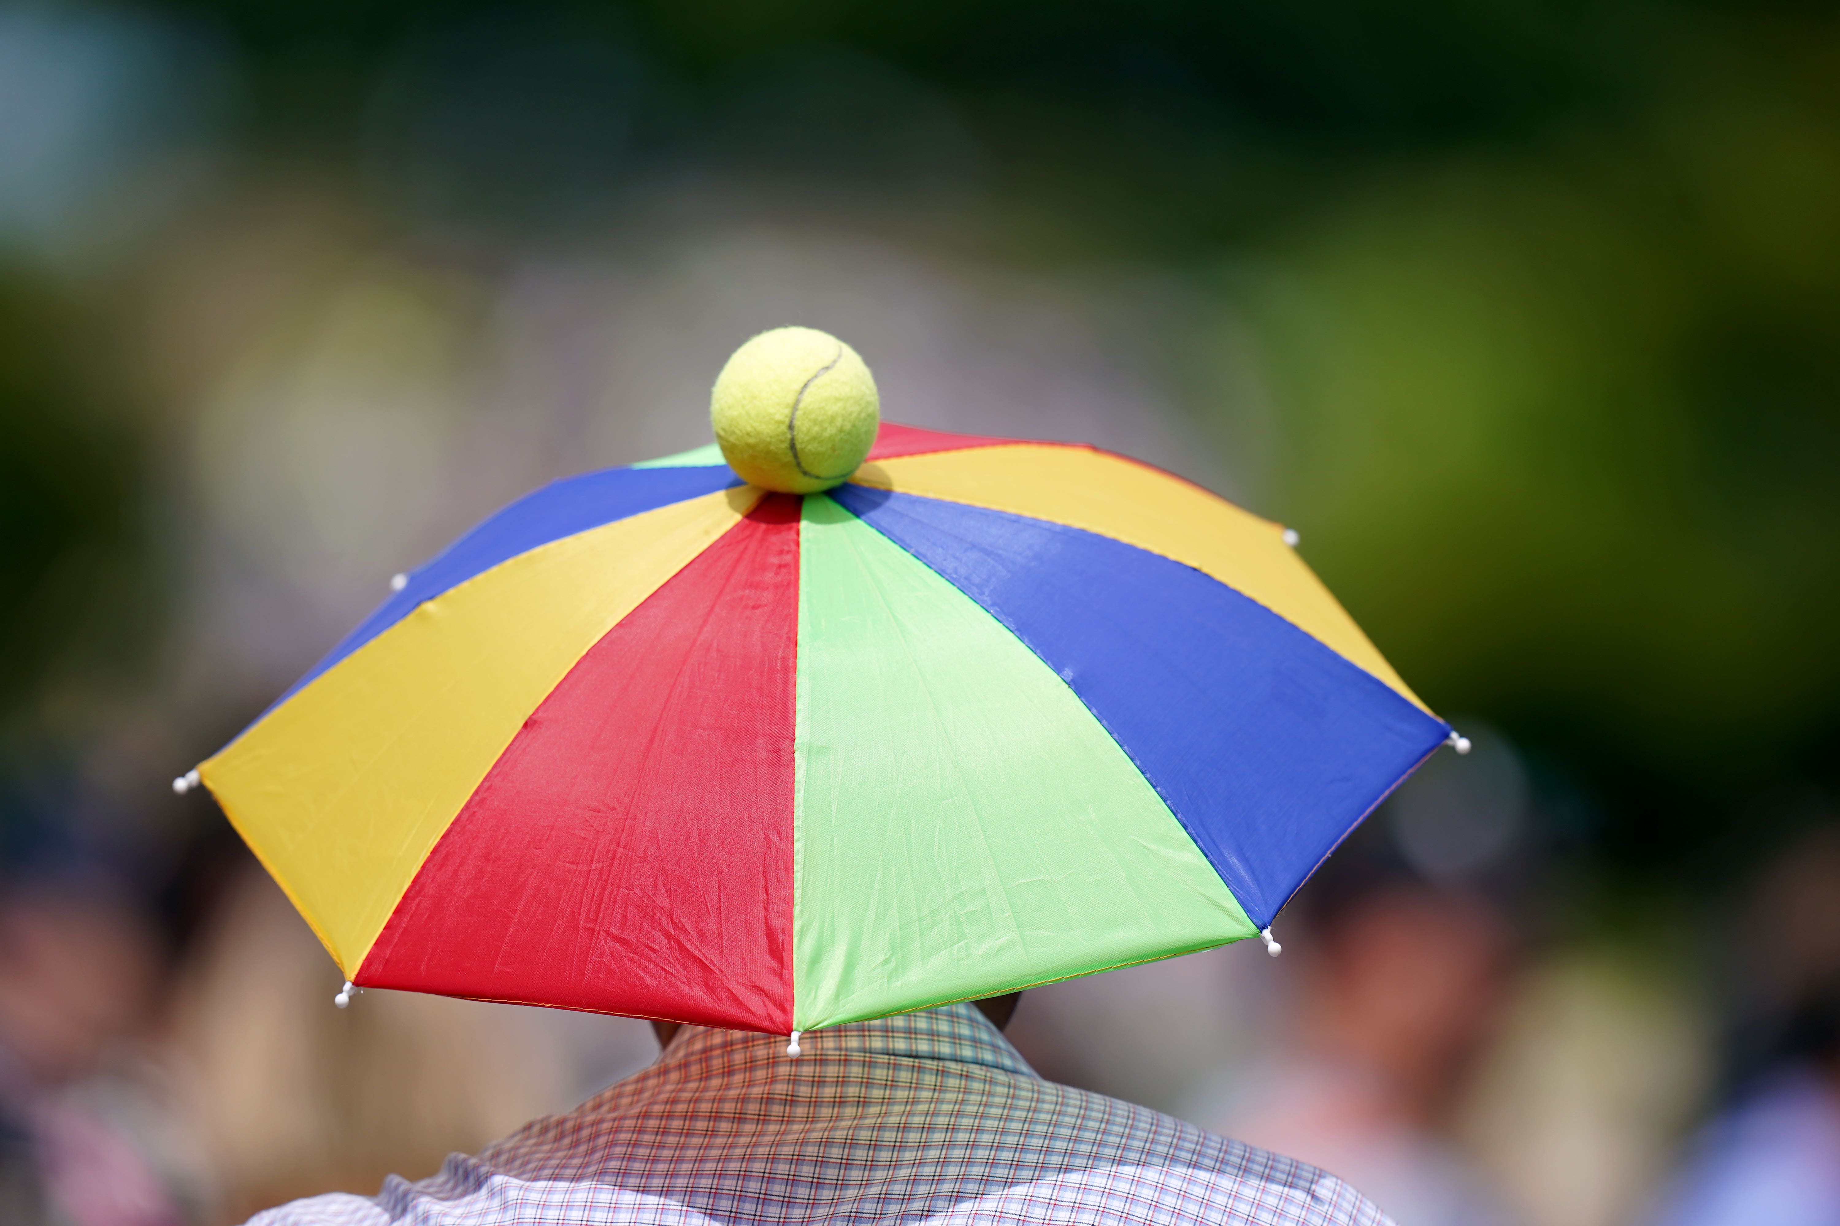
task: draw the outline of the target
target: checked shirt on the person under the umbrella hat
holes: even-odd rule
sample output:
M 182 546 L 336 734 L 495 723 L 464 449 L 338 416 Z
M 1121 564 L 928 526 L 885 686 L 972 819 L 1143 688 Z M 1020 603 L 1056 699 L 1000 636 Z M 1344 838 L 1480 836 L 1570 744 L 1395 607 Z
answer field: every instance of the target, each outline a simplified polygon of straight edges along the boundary
M 1389 1226 L 1316 1167 L 1043 1081 L 972 1005 L 800 1046 L 686 1026 L 651 1068 L 477 1158 L 250 1226 Z

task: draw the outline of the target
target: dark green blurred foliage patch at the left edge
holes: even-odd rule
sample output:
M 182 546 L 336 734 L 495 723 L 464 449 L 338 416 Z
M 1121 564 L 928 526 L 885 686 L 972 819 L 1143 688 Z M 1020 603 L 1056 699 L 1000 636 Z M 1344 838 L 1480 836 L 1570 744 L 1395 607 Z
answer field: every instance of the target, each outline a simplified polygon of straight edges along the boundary
M 112 369 L 64 296 L 0 268 L 0 732 L 37 735 L 155 641 L 147 456 Z

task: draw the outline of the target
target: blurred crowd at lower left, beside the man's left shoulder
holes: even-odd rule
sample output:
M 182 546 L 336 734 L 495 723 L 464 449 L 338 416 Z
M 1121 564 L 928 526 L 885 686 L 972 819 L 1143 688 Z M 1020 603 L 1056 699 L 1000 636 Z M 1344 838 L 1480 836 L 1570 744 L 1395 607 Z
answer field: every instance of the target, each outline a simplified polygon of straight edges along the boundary
M 208 1226 L 431 1175 L 646 1064 L 642 1022 L 366 993 L 241 857 L 201 926 L 107 880 L 0 899 L 0 1220 Z M 197 882 L 188 882 L 197 884 Z

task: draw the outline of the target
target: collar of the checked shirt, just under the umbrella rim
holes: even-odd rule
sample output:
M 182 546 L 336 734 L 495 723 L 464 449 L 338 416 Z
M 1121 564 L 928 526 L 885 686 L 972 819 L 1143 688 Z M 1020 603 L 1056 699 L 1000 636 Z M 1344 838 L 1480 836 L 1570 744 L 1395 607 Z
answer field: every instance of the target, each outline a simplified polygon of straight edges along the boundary
M 762 1055 L 749 1048 L 773 1048 L 780 1059 L 786 1055 L 784 1035 L 756 1035 L 751 1031 L 708 1029 L 703 1026 L 684 1026 L 672 1046 L 659 1057 L 659 1064 L 679 1064 L 690 1059 L 721 1059 L 732 1055 Z M 883 1055 L 911 1061 L 946 1061 L 953 1064 L 981 1064 L 1021 1077 L 1036 1077 L 1029 1062 L 1010 1046 L 990 1018 L 977 1005 L 957 1004 L 924 1009 L 920 1013 L 900 1013 L 889 1018 L 868 1022 L 850 1022 L 800 1035 L 802 1055 L 797 1059 L 822 1059 L 834 1055 Z

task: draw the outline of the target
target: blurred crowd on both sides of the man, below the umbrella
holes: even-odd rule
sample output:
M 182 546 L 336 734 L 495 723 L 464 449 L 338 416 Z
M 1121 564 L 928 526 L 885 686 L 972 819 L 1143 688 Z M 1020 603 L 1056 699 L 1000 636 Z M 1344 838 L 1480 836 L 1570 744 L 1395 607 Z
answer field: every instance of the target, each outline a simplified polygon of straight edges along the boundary
M 1652 932 L 1555 928 L 1527 829 L 1478 818 L 1511 754 L 1487 737 L 1474 770 L 1408 783 L 1284 912 L 1279 961 L 1229 947 L 1036 989 L 1014 1042 L 1043 1075 L 1336 1171 L 1404 1224 L 1833 1222 L 1840 829 L 1768 857 L 1733 919 L 1698 925 L 1731 937 L 1717 969 L 1693 967 Z M 657 1050 L 626 1018 L 335 1009 L 335 967 L 224 840 L 158 895 L 53 851 L 0 891 L 7 1222 L 215 1226 L 370 1193 Z

